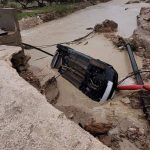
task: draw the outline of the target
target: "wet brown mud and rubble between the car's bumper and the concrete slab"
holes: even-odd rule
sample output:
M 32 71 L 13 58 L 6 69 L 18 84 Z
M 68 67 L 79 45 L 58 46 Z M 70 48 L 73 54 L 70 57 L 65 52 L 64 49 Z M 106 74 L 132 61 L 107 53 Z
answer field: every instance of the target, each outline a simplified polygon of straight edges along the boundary
M 148 146 L 149 127 L 141 109 L 131 109 L 127 104 L 117 101 L 98 107 L 96 110 L 77 106 L 57 106 L 72 121 L 79 124 L 102 143 L 113 150 L 124 150 L 128 145 L 138 149 Z M 138 115 L 135 115 L 135 111 Z M 128 117 L 126 117 L 128 116 Z M 129 149 L 131 149 L 129 147 Z

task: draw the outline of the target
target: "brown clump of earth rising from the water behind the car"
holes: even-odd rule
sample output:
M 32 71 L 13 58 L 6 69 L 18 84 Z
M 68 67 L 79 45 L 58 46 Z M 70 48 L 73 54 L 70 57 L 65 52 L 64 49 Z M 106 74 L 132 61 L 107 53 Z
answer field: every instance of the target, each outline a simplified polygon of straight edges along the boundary
M 117 28 L 118 24 L 116 22 L 106 19 L 102 24 L 96 24 L 94 31 L 97 33 L 116 32 Z

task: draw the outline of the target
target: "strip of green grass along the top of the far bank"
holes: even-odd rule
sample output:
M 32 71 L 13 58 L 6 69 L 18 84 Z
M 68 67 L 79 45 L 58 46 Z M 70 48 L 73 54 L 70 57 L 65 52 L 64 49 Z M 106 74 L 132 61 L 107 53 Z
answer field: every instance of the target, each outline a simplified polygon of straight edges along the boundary
M 23 11 L 17 14 L 18 20 L 27 17 L 34 17 L 39 14 L 52 13 L 56 16 L 64 16 L 77 10 L 79 4 L 58 4 L 52 6 L 45 6 L 42 8 L 31 9 L 30 11 Z

